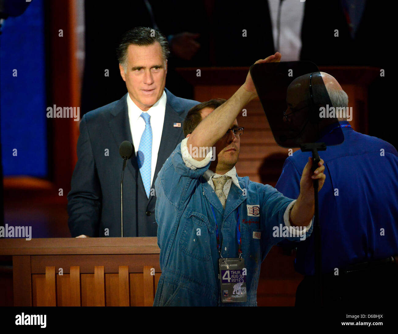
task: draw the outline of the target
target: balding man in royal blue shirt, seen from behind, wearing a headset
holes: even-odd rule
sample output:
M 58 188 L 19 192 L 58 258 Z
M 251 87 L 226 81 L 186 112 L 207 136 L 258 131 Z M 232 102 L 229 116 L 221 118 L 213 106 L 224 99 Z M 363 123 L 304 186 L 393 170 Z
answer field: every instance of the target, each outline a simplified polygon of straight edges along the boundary
M 321 75 L 332 106 L 346 110 L 347 94 L 335 78 L 323 72 Z M 308 93 L 308 85 L 303 84 L 307 77 L 295 80 L 301 85 L 289 87 Z M 288 95 L 298 94 L 288 90 Z M 288 122 L 300 114 L 296 113 L 299 102 L 290 102 Z M 356 115 L 359 117 L 359 111 Z M 339 116 L 338 123 L 325 126 L 326 118 L 319 123 L 319 142 L 336 143 L 339 127 L 345 138 L 342 144 L 319 152 L 327 179 L 319 193 L 324 304 L 367 305 L 396 300 L 397 289 L 388 286 L 393 287 L 398 280 L 394 263 L 398 254 L 398 153 L 391 144 L 356 132 L 347 122 L 352 113 Z M 296 151 L 289 156 L 275 188 L 295 198 L 300 192 L 302 167 L 310 155 Z M 281 245 L 297 247 L 295 269 L 305 275 L 297 288 L 296 305 L 313 305 L 308 288 L 314 284 L 314 237 L 295 245 L 283 241 Z

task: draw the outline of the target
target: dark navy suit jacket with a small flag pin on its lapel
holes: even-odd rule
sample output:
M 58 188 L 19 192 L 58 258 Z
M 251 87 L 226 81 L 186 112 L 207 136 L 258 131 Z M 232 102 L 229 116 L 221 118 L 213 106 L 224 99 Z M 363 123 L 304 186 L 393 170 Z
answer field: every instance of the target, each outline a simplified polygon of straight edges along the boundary
M 167 102 L 162 140 L 152 188 L 160 168 L 183 140 L 183 120 L 199 102 L 181 99 L 165 89 Z M 174 127 L 181 123 L 181 127 Z M 72 237 L 120 237 L 120 179 L 123 159 L 119 145 L 133 142 L 128 118 L 127 94 L 83 116 L 77 144 L 78 161 L 68 194 L 68 225 Z M 109 155 L 105 151 L 109 150 Z M 148 199 L 135 154 L 127 161 L 123 181 L 123 237 L 154 237 L 156 196 Z M 109 229 L 109 233 L 107 233 Z

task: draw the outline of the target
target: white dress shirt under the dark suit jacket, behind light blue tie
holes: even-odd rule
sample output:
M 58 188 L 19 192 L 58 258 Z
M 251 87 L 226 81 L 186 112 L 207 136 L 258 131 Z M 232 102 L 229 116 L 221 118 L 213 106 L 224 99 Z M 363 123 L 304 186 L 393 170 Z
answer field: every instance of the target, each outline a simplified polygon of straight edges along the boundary
M 151 186 L 155 175 L 156 162 L 158 161 L 160 140 L 162 139 L 164 114 L 166 112 L 166 99 L 167 99 L 166 92 L 163 91 L 163 94 L 160 97 L 160 99 L 152 107 L 150 107 L 148 111 L 142 111 L 133 102 L 130 95 L 127 94 L 127 109 L 129 112 L 131 138 L 133 138 L 135 156 L 137 156 L 137 151 L 140 146 L 141 136 L 145 130 L 145 121 L 141 117 L 141 114 L 148 113 L 150 115 L 149 122 L 152 128 L 152 155 L 151 155 L 151 179 L 150 179 Z

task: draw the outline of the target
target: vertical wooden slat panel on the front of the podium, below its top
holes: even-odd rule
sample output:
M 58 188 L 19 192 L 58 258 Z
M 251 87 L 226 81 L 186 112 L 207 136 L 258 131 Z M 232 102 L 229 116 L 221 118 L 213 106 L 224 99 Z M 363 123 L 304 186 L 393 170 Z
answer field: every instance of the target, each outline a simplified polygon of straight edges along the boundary
M 159 272 L 151 275 L 153 268 L 129 274 L 128 266 L 120 266 L 119 273 L 105 274 L 104 266 L 94 266 L 94 274 L 80 280 L 77 266 L 63 275 L 46 267 L 46 274 L 32 275 L 33 306 L 152 306 L 160 278 Z

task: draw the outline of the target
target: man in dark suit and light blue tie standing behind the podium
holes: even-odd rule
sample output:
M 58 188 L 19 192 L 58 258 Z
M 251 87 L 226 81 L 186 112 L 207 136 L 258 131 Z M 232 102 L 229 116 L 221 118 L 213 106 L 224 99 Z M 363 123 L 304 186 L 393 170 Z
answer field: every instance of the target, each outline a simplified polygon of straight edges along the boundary
M 198 104 L 165 89 L 169 49 L 150 28 L 127 31 L 117 49 L 128 93 L 83 116 L 68 194 L 72 237 L 121 236 L 119 145 L 133 143 L 123 189 L 123 236 L 156 236 L 154 181 L 184 138 L 181 124 Z M 102 70 L 102 69 L 99 69 Z

